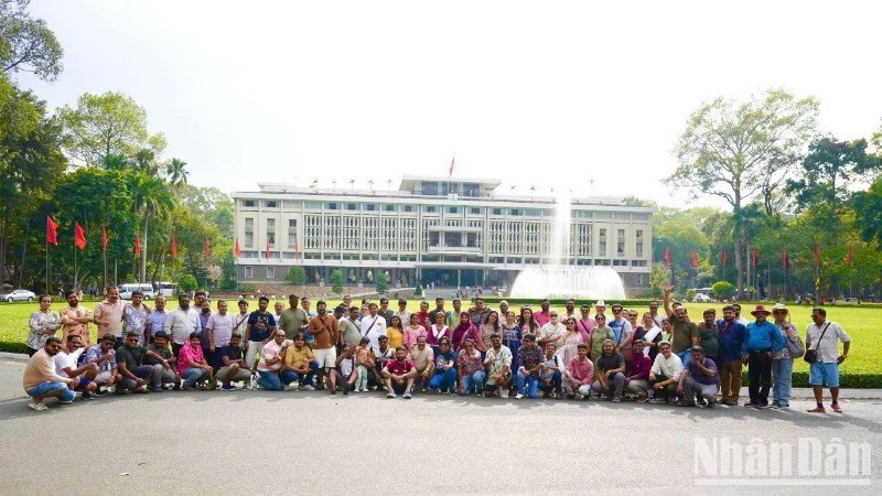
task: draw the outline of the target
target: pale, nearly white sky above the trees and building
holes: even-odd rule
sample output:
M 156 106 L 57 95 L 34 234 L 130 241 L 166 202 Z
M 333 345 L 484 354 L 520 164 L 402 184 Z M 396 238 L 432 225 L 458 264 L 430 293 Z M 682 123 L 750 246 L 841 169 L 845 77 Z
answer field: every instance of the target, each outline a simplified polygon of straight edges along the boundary
M 602 3 L 602 4 L 601 4 Z M 882 123 L 880 2 L 33 0 L 64 46 L 51 108 L 123 91 L 165 159 L 225 192 L 498 177 L 528 194 L 635 195 L 688 116 L 770 87 L 820 100 L 819 129 Z M 514 190 L 513 190 L 514 187 Z M 538 194 L 538 193 L 537 193 Z

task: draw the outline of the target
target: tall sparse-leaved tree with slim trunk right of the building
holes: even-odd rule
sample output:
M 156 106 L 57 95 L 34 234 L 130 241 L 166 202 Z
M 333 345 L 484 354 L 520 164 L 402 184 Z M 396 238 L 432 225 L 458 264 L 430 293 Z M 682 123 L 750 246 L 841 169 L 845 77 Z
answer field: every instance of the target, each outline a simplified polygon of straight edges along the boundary
M 783 89 L 735 103 L 724 98 L 693 112 L 677 143 L 679 165 L 665 180 L 692 197 L 719 196 L 735 215 L 733 226 L 738 295 L 745 285 L 747 244 L 739 222 L 742 207 L 764 192 L 772 195 L 815 133 L 818 101 Z

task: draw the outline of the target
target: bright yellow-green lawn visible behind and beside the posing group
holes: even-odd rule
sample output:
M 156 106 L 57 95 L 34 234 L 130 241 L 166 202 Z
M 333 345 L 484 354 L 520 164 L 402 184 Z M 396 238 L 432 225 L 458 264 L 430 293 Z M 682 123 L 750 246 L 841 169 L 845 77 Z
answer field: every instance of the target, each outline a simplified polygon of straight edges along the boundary
M 270 309 L 272 309 L 270 303 Z M 330 305 L 338 304 L 338 301 L 329 301 Z M 611 303 L 607 302 L 607 305 Z M 66 303 L 53 303 L 56 312 Z M 87 308 L 94 308 L 95 303 L 85 303 Z M 448 303 L 450 305 L 450 303 Z M 434 304 L 432 304 L 432 308 Z M 690 316 L 701 320 L 701 312 L 707 309 L 717 309 L 719 316 L 722 316 L 722 304 L 688 303 Z M 743 303 L 744 309 L 752 309 L 753 305 Z M 256 308 L 256 302 L 251 303 Z M 538 309 L 538 304 L 534 308 Z M 578 306 L 577 306 L 578 308 Z M 788 305 L 790 309 L 792 322 L 800 330 L 805 338 L 805 328 L 811 323 L 810 306 Z M 31 313 L 39 309 L 37 303 L 0 303 L 0 351 L 25 353 L 25 341 L 28 338 L 28 319 Z M 411 300 L 408 304 L 410 311 L 419 311 L 419 301 Z M 646 309 L 636 309 L 641 313 Z M 747 315 L 750 319 L 750 315 Z M 851 351 L 848 360 L 842 365 L 842 386 L 843 387 L 882 387 L 882 362 L 879 359 L 879 351 L 882 349 L 882 306 L 827 306 L 827 317 L 842 325 L 852 338 Z M 93 327 L 94 335 L 94 327 Z M 808 365 L 802 359 L 797 359 L 794 367 L 794 386 L 802 387 L 807 384 Z

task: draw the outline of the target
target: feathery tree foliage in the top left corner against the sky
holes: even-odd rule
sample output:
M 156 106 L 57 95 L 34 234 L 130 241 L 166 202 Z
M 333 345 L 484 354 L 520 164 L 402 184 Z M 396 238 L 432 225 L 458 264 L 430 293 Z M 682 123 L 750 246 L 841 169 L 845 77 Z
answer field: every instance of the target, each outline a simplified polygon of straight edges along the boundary
M 3 73 L 33 73 L 53 82 L 62 72 L 64 50 L 46 21 L 31 19 L 30 0 L 0 0 L 0 65 Z

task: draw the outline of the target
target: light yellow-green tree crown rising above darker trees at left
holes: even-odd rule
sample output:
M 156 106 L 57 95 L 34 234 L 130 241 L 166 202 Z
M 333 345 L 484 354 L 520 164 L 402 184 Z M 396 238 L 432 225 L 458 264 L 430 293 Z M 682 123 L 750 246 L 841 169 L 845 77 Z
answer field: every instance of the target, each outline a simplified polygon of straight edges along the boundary
M 136 158 L 142 150 L 159 157 L 165 137 L 147 130 L 147 110 L 122 93 L 83 94 L 76 108 L 58 109 L 64 125 L 65 150 L 89 165 L 103 165 L 114 154 Z

